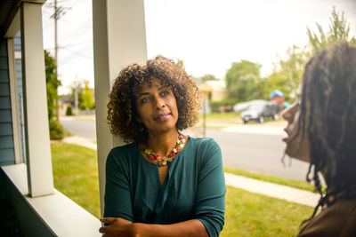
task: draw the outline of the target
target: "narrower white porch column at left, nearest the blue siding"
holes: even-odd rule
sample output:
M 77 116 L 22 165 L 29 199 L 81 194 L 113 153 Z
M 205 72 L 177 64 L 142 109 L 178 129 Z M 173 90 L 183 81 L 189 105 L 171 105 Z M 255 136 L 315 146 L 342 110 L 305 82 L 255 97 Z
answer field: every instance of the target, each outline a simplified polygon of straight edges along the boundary
M 21 4 L 21 55 L 27 142 L 28 193 L 53 194 L 42 36 L 42 4 Z

